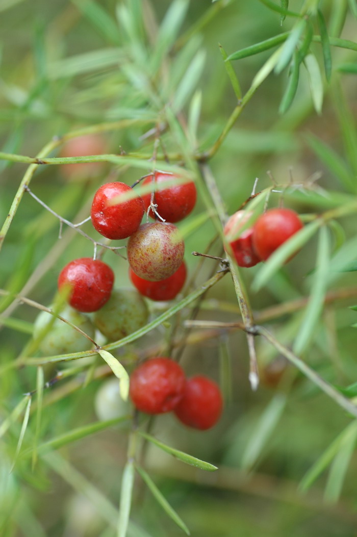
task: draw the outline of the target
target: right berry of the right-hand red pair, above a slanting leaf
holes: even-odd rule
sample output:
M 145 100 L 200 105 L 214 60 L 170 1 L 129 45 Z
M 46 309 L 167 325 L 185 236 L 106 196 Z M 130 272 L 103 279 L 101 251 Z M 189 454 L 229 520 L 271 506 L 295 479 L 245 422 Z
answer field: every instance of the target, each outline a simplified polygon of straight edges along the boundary
M 302 229 L 303 224 L 291 209 L 270 209 L 253 226 L 253 247 L 262 260 L 268 259 L 285 241 Z

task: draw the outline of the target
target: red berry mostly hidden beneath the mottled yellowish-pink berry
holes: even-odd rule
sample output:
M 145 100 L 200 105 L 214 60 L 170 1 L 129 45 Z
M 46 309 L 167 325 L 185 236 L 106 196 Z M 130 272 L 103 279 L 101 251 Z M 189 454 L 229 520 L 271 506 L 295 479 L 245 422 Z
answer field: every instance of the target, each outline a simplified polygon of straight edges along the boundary
M 169 278 L 160 281 L 149 281 L 140 278 L 129 269 L 130 280 L 142 295 L 151 300 L 172 300 L 181 291 L 187 275 L 185 262 Z

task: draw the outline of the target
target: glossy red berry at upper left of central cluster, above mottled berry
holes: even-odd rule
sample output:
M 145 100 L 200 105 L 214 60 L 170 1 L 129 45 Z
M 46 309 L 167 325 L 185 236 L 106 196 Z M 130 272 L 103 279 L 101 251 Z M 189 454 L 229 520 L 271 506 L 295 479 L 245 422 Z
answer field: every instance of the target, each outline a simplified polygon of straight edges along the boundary
M 144 204 L 140 196 L 109 205 L 109 202 L 120 194 L 133 192 L 133 188 L 125 183 L 106 183 L 98 188 L 91 209 L 93 227 L 104 237 L 118 240 L 127 238 L 139 228 Z

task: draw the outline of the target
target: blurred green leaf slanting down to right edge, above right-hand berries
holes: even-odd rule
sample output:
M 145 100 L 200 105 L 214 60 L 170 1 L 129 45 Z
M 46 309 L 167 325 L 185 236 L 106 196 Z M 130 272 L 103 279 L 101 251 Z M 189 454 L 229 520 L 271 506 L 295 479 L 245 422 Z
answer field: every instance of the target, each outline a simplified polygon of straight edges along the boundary
M 355 192 L 355 180 L 344 159 L 316 136 L 307 134 L 305 135 L 305 139 L 320 161 L 327 166 L 337 179 L 339 179 L 341 184 L 343 184 L 349 192 Z

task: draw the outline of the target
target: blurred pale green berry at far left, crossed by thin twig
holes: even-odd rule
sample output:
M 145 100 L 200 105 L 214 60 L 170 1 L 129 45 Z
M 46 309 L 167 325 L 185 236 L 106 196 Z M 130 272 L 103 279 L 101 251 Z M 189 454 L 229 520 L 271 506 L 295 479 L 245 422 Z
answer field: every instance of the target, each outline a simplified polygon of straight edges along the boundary
M 72 324 L 83 330 L 88 336 L 94 338 L 94 326 L 90 319 L 72 309 L 71 307 L 65 307 L 61 313 L 61 317 L 67 319 Z M 41 311 L 37 316 L 33 326 L 33 338 L 37 339 L 42 330 L 45 330 L 48 323 L 53 319 L 53 315 L 47 313 L 47 311 Z M 54 354 L 67 354 L 70 352 L 81 352 L 90 349 L 92 343 L 89 339 L 82 336 L 72 326 L 64 323 L 60 319 L 55 319 L 53 325 L 43 337 L 39 345 L 39 350 L 45 355 Z

